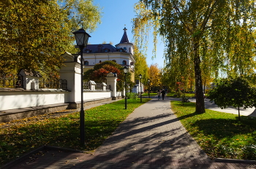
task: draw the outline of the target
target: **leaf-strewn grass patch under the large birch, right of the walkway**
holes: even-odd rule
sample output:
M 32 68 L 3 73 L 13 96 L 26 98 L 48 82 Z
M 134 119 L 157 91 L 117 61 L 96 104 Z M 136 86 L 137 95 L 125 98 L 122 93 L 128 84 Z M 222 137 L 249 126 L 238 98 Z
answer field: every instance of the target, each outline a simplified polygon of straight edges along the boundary
M 222 113 L 206 109 L 197 114 L 195 103 L 171 102 L 182 125 L 211 158 L 256 160 L 256 117 Z

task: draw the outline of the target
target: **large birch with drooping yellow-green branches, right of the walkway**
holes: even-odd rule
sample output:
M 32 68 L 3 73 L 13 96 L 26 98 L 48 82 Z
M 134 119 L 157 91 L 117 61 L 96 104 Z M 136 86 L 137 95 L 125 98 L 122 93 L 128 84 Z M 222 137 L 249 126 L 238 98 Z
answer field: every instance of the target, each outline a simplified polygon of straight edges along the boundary
M 178 64 L 173 68 L 191 66 L 198 113 L 205 112 L 202 60 L 206 53 L 216 74 L 225 66 L 236 74 L 245 74 L 248 66 L 253 67 L 255 1 L 140 0 L 135 9 L 135 42 L 145 44 L 144 32 L 154 25 L 154 36 L 159 32 L 165 39 L 166 60 Z

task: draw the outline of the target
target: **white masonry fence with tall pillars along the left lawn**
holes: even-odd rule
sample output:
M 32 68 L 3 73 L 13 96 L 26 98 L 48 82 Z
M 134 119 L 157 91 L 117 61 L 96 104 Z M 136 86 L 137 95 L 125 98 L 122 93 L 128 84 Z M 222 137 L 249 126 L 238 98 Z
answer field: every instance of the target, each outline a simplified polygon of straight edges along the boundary
M 0 122 L 7 121 L 1 120 L 1 116 L 12 114 L 14 111 L 24 112 L 55 107 L 51 111 L 43 112 L 50 113 L 61 111 L 61 109 L 80 109 L 80 56 L 73 56 L 66 52 L 62 57 L 64 57 L 64 66 L 60 69 L 60 78 L 64 81 L 64 87 L 61 89 L 40 88 L 40 76 L 24 70 L 19 72 L 18 87 L 2 87 L 0 84 Z M 116 100 L 124 97 L 124 91 L 116 91 L 116 75 L 110 73 L 106 79 L 107 83 L 102 84 L 96 84 L 94 81 L 85 82 L 89 84 L 87 88 L 84 84 L 85 106 L 91 101 Z M 23 82 L 20 83 L 20 80 Z M 21 84 L 23 84 L 22 88 L 20 88 Z

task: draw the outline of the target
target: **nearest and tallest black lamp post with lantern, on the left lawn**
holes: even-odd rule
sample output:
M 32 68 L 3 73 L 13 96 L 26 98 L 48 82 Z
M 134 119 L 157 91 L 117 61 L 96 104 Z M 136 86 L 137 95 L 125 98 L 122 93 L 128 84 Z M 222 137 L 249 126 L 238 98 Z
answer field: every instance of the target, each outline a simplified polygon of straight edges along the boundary
M 81 66 L 81 110 L 80 110 L 80 145 L 85 144 L 85 126 L 84 126 L 84 110 L 83 110 L 83 48 L 87 46 L 88 39 L 91 37 L 83 28 L 73 32 L 75 41 L 80 48 L 80 66 Z

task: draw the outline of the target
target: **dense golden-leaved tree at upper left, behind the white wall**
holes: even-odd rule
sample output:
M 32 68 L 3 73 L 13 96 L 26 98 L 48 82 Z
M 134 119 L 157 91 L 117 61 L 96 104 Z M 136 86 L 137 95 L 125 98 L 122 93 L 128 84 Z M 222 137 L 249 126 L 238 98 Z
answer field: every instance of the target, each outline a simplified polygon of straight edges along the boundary
M 0 73 L 20 68 L 57 72 L 61 54 L 76 52 L 72 31 L 92 32 L 100 22 L 93 1 L 0 1 Z

